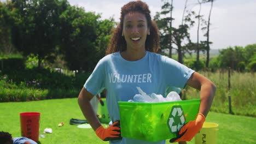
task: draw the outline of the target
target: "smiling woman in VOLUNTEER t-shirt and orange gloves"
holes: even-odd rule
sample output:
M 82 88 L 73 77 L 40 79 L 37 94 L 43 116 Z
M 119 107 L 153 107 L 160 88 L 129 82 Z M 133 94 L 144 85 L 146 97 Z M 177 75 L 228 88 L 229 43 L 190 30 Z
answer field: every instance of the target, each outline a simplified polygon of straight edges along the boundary
M 210 110 L 216 87 L 206 77 L 171 58 L 155 52 L 159 49 L 159 33 L 151 20 L 148 5 L 141 1 L 121 8 L 120 23 L 107 49 L 107 56 L 96 65 L 78 96 L 78 104 L 85 118 L 100 139 L 109 143 L 165 143 L 148 142 L 121 137 L 118 101 L 127 101 L 137 94 L 136 87 L 146 93 L 165 95 L 166 87 L 201 89 L 201 105 L 195 121 L 185 124 L 176 139 L 170 142 L 190 141 L 201 129 Z M 101 89 L 107 90 L 109 117 L 114 122 L 103 128 L 94 115 L 90 100 Z M 139 123 L 139 122 L 138 122 Z

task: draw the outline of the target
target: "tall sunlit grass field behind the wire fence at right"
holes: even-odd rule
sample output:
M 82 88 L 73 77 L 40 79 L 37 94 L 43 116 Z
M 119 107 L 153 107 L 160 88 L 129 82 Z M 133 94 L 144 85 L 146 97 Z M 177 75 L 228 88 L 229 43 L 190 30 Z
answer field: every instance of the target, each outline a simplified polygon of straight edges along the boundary
M 231 110 L 235 115 L 256 116 L 256 77 L 255 73 L 231 72 L 230 90 L 228 88 L 228 72 L 216 73 L 199 71 L 216 86 L 217 91 L 211 107 L 212 111 L 229 113 L 229 100 L 231 98 Z M 187 88 L 186 98 L 199 98 L 199 92 L 193 88 Z

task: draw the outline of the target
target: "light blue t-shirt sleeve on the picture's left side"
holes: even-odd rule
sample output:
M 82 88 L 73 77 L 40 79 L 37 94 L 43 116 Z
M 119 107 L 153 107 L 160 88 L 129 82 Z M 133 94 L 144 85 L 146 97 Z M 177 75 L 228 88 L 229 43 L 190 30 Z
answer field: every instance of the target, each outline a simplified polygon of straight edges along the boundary
M 84 84 L 84 88 L 87 89 L 87 91 L 91 94 L 96 95 L 97 93 L 101 92 L 102 89 L 104 89 L 104 80 L 106 77 L 104 71 L 104 61 L 101 59 Z

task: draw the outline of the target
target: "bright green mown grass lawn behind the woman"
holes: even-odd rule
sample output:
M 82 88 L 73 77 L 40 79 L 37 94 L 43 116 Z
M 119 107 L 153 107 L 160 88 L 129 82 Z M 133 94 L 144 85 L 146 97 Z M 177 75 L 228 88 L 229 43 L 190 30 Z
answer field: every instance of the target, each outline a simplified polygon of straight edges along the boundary
M 0 131 L 20 136 L 21 112 L 40 112 L 40 134 L 45 128 L 53 129 L 52 134 L 39 138 L 40 143 L 108 143 L 92 129 L 69 125 L 71 118 L 84 119 L 77 98 L 0 103 Z M 219 124 L 218 143 L 256 143 L 256 118 L 210 112 L 206 121 Z M 58 127 L 60 122 L 64 122 L 63 127 Z M 188 143 L 194 143 L 194 139 Z

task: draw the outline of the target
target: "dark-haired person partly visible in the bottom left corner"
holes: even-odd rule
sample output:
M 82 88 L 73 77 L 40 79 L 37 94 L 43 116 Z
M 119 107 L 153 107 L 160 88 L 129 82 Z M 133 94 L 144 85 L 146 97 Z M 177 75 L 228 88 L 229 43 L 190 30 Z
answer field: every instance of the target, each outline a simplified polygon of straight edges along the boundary
M 27 137 L 12 137 L 8 132 L 0 131 L 1 144 L 37 144 L 37 142 Z

